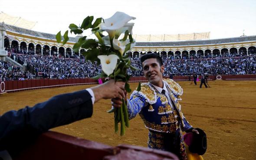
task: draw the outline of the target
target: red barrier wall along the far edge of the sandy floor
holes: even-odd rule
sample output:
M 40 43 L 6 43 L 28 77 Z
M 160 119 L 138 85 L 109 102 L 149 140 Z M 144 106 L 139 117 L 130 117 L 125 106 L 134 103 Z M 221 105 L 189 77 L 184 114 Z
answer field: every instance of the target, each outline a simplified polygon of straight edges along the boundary
M 169 78 L 164 76 L 164 78 Z M 201 76 L 199 76 L 199 79 Z M 176 81 L 188 81 L 188 76 L 174 76 Z M 190 76 L 190 80 L 193 77 Z M 222 79 L 222 80 L 256 80 L 256 75 L 217 75 L 209 76 L 210 80 Z M 146 81 L 144 76 L 131 77 L 129 82 L 143 82 Z M 19 91 L 23 89 L 34 89 L 34 88 L 44 88 L 44 87 L 56 87 L 65 85 L 79 85 L 79 84 L 98 84 L 98 81 L 91 78 L 73 78 L 73 79 L 33 79 L 24 81 L 5 81 L 4 88 L 5 91 Z M 3 92 L 3 84 L 2 91 Z M 0 92 L 0 93 L 1 93 Z

